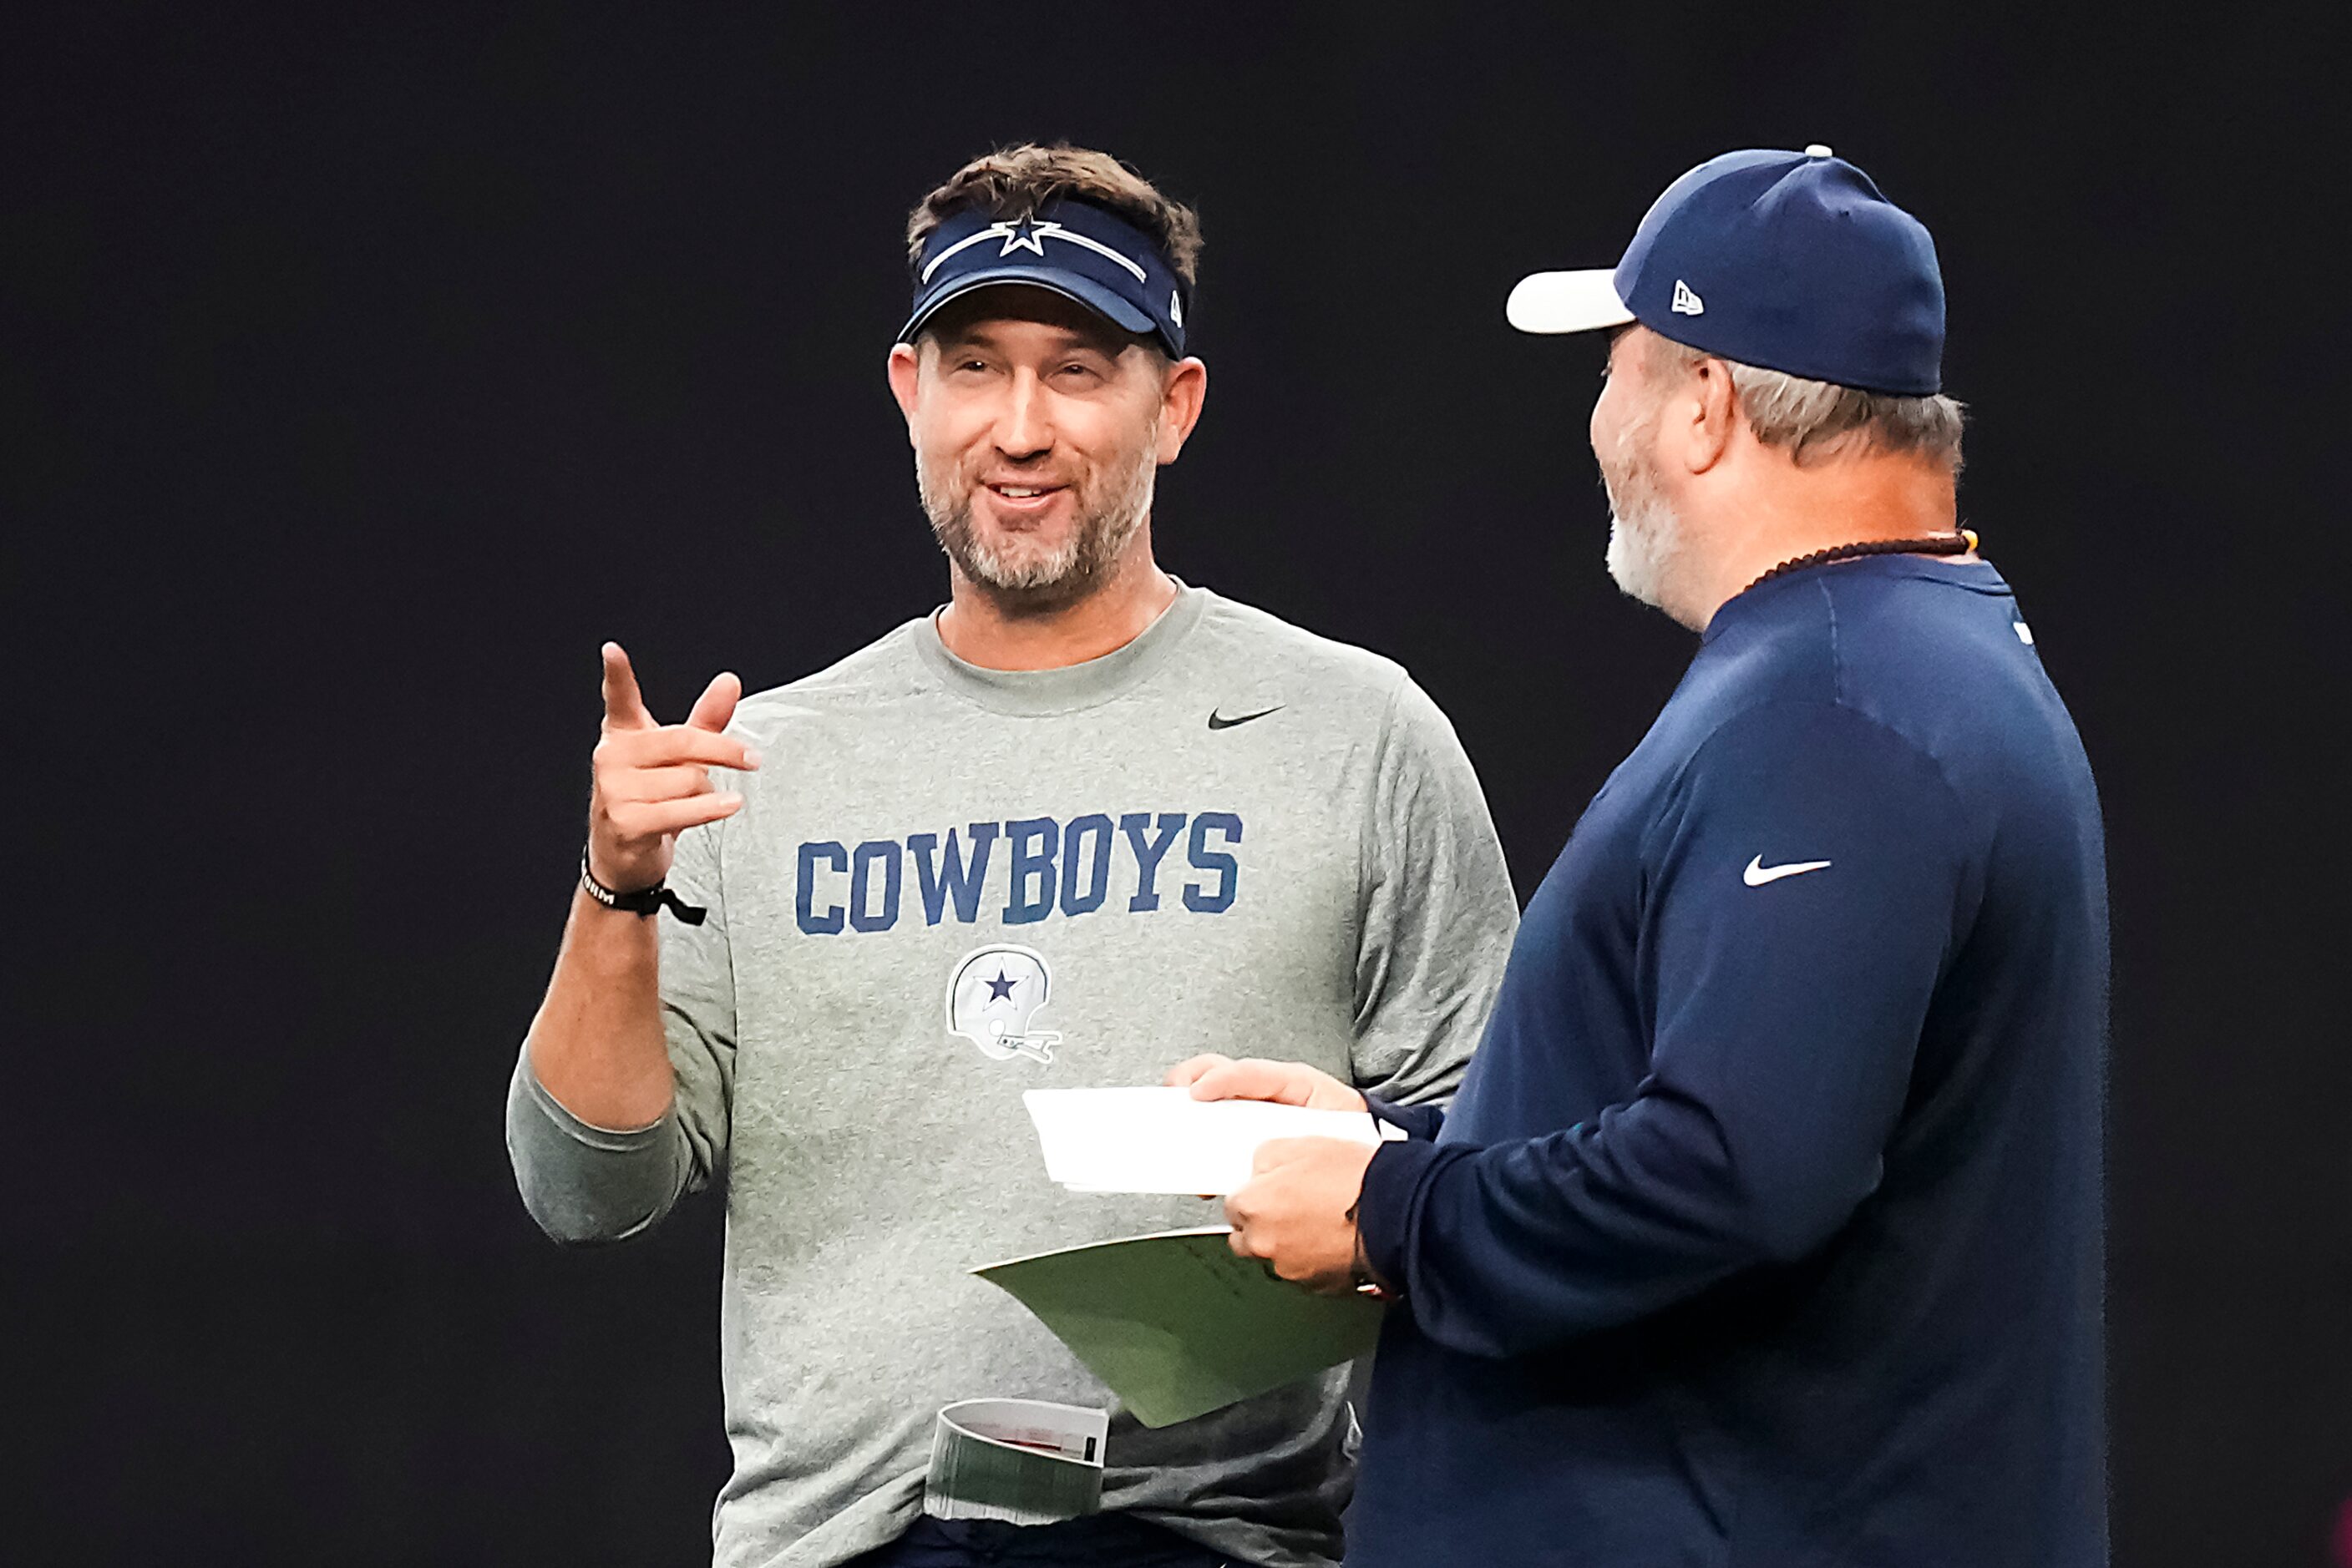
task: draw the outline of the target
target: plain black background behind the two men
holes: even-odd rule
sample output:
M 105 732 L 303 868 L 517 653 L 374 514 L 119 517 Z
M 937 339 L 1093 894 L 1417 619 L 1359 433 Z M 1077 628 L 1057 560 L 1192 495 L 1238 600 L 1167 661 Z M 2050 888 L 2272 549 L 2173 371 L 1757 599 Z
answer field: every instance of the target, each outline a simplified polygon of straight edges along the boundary
M 1691 644 L 1599 567 L 1599 348 L 1503 294 L 1733 146 L 1929 221 L 1964 515 L 2110 813 L 2117 1561 L 2326 1561 L 2340 9 L 1769 9 L 19 19 L 0 1554 L 706 1552 L 717 1206 L 560 1253 L 501 1147 L 595 649 L 675 717 L 943 595 L 903 212 L 1070 136 L 1209 235 L 1162 559 L 1402 658 L 1522 893 Z

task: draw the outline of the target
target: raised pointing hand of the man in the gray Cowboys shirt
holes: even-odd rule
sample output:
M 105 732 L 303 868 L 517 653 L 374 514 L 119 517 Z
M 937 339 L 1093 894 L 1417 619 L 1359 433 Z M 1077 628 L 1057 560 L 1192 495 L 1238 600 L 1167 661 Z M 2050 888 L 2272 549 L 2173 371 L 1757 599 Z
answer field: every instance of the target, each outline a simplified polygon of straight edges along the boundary
M 743 682 L 720 672 L 684 724 L 656 724 L 619 642 L 604 644 L 604 731 L 588 797 L 588 870 L 633 893 L 670 875 L 677 835 L 743 809 L 710 783 L 710 769 L 757 769 L 760 752 L 724 736 Z

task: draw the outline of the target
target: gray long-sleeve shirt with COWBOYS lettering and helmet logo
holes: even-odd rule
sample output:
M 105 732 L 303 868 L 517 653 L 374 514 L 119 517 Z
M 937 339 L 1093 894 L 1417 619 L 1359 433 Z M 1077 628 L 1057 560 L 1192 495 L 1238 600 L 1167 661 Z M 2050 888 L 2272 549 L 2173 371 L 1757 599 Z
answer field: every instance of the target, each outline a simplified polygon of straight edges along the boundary
M 967 1269 L 1216 1218 L 1049 1182 L 1023 1088 L 1223 1051 L 1451 1095 L 1517 907 L 1444 715 L 1385 658 L 1183 588 L 1065 670 L 981 670 L 913 621 L 734 731 L 767 762 L 670 875 L 708 922 L 661 917 L 670 1114 L 590 1128 L 527 1058 L 508 1098 L 557 1239 L 637 1234 L 724 1178 L 717 1563 L 896 1537 L 936 1410 L 983 1396 L 1110 1406 L 1103 1507 L 1336 1561 L 1338 1375 L 1145 1429 Z

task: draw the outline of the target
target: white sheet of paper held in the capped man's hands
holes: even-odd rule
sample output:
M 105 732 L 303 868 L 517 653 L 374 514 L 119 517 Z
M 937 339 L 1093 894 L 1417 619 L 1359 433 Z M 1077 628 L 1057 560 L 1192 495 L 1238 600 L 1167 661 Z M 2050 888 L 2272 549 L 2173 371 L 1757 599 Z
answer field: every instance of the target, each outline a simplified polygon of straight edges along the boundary
M 1404 1128 L 1359 1110 L 1195 1100 L 1183 1088 L 1030 1088 L 1044 1168 L 1073 1192 L 1240 1192 L 1268 1138 L 1378 1143 Z

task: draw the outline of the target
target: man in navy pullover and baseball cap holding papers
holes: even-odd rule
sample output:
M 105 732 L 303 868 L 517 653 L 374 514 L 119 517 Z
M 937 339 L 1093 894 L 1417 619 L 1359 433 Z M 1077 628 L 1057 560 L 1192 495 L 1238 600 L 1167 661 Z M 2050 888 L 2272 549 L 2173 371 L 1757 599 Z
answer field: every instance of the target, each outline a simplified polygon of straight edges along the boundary
M 1957 527 L 1929 233 L 1828 148 L 1729 153 L 1508 313 L 1616 329 L 1609 571 L 1700 644 L 1451 1112 L 1230 1199 L 1237 1251 L 1397 1298 L 1348 1561 L 2103 1563 L 2100 816 Z

